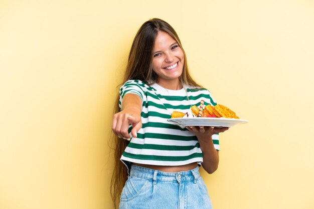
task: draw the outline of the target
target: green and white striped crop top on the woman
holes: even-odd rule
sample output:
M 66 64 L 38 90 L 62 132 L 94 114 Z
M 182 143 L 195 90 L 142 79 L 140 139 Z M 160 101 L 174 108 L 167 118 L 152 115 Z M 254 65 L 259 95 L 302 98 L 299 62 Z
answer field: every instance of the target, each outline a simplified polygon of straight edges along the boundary
M 137 137 L 131 137 L 121 156 L 127 167 L 131 162 L 154 165 L 203 162 L 202 150 L 195 134 L 167 119 L 171 118 L 174 110 L 187 112 L 192 105 L 199 106 L 202 99 L 204 105 L 216 105 L 206 88 L 186 86 L 180 90 L 170 90 L 157 83 L 147 85 L 140 80 L 128 80 L 120 87 L 120 108 L 123 96 L 127 93 L 135 93 L 142 100 L 142 127 Z M 131 129 L 130 125 L 130 136 Z M 218 134 L 214 134 L 212 139 L 215 148 L 219 150 Z

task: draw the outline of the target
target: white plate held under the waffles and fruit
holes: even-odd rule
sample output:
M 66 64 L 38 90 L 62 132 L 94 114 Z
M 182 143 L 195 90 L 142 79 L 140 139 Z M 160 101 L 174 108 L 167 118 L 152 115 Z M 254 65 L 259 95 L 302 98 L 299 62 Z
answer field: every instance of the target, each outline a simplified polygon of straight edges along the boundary
M 231 127 L 248 122 L 245 119 L 234 119 L 225 117 L 177 117 L 168 119 L 170 122 L 178 123 L 180 126 L 216 126 Z

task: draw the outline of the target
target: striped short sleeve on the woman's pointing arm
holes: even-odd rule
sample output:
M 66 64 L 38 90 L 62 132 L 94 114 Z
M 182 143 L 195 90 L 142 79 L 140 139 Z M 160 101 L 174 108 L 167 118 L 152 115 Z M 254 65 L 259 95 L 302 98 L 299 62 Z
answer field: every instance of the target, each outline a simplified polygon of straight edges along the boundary
M 140 80 L 128 80 L 126 81 L 119 90 L 120 98 L 119 98 L 119 107 L 121 109 L 121 103 L 123 96 L 127 93 L 134 93 L 140 97 L 140 99 L 143 101 L 144 98 L 144 85 L 142 81 Z

